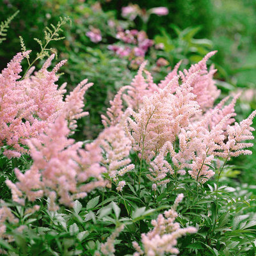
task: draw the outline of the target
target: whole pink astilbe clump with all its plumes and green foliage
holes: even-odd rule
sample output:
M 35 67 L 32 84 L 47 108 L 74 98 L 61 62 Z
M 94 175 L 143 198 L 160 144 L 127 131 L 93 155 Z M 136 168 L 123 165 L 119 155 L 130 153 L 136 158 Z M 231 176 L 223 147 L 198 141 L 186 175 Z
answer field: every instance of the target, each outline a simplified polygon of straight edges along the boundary
M 22 79 L 29 52 L 18 53 L 0 76 L 0 163 L 13 166 L 3 171 L 0 253 L 252 253 L 253 197 L 221 179 L 232 157 L 252 154 L 256 111 L 238 123 L 239 95 L 214 106 L 220 90 L 207 61 L 215 53 L 188 70 L 178 63 L 158 84 L 144 61 L 93 141 L 70 138 L 88 115 L 92 84 L 83 80 L 64 99 L 56 72 L 65 61 L 49 72 L 52 55 Z

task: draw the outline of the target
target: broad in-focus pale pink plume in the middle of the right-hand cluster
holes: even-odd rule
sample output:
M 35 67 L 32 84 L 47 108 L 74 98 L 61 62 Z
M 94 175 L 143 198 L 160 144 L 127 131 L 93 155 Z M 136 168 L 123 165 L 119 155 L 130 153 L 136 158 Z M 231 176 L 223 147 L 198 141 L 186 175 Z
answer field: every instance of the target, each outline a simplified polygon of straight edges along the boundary
M 200 112 L 190 86 L 196 76 L 198 74 L 191 75 L 181 86 L 179 77 L 174 77 L 163 90 L 160 89 L 149 98 L 144 97 L 143 108 L 138 113 L 132 111 L 132 118 L 127 118 L 126 131 L 132 147 L 141 152 L 147 161 L 157 155 L 166 141 L 173 143 L 180 129 L 186 127 L 190 119 Z M 173 86 L 179 86 L 174 95 Z

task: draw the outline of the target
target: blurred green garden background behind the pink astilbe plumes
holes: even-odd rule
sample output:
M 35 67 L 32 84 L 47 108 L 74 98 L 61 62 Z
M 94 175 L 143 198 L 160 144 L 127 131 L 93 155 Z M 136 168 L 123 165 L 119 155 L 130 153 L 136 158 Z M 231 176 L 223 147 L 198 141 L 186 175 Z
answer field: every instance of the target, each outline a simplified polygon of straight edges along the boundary
M 136 8 L 142 16 L 125 19 L 122 8 L 129 4 L 137 4 Z M 168 15 L 152 14 L 147 17 L 150 8 L 159 6 L 168 8 Z M 148 60 L 147 68 L 153 72 L 157 82 L 179 60 L 184 60 L 181 68 L 185 68 L 201 60 L 207 52 L 218 50 L 211 61 L 218 68 L 215 78 L 223 92 L 222 97 L 242 90 L 237 104 L 237 120 L 245 118 L 255 109 L 255 0 L 0 0 L 1 21 L 17 10 L 20 12 L 10 24 L 6 41 L 0 45 L 1 69 L 16 52 L 21 51 L 19 36 L 24 38 L 27 49 L 33 50 L 33 59 L 40 51 L 33 38 L 43 39 L 45 26 L 57 24 L 60 16 L 68 16 L 72 20 L 72 24 L 66 24 L 61 33 L 65 40 L 51 42 L 51 47 L 58 51 L 54 63 L 68 60 L 61 68 L 64 74 L 60 77 L 60 84 L 67 81 L 68 90 L 71 90 L 84 78 L 94 83 L 86 95 L 90 116 L 79 120 L 79 132 L 75 135 L 77 140 L 97 136 L 102 129 L 100 114 L 106 111 L 116 90 L 131 83 L 144 59 Z M 100 31 L 102 39 L 99 42 L 92 42 L 86 36 L 93 29 Z M 108 49 L 109 45 L 134 47 L 116 36 L 118 31 L 126 29 L 144 30 L 147 37 L 154 40 L 145 57 L 129 54 L 121 58 Z M 161 45 L 160 49 L 156 45 Z M 162 64 L 157 62 L 159 59 Z M 42 61 L 37 61 L 35 65 L 40 67 Z M 244 161 L 239 158 L 237 168 L 251 170 L 241 175 L 244 182 L 252 182 L 256 171 L 255 157 L 246 157 Z M 243 166 L 239 167 L 242 162 Z

